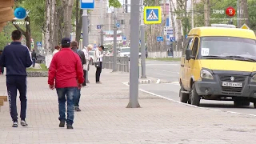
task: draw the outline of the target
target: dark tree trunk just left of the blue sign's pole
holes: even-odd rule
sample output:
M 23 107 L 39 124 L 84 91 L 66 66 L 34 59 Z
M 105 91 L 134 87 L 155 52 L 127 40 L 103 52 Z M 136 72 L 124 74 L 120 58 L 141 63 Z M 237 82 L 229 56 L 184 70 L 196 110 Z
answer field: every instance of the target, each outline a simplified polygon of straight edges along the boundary
M 76 10 L 75 10 L 75 41 L 80 43 L 81 31 L 82 31 L 82 10 L 79 8 L 79 0 L 76 0 Z

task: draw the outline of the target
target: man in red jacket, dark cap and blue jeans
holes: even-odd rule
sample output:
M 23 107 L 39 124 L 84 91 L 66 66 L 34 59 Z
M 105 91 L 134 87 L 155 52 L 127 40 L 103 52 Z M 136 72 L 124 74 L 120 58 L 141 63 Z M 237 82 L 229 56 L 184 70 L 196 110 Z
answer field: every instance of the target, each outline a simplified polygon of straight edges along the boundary
M 50 89 L 54 90 L 56 87 L 58 94 L 59 127 L 64 127 L 66 122 L 67 129 L 73 129 L 74 95 L 77 89 L 81 89 L 83 81 L 82 62 L 78 54 L 71 50 L 70 38 L 62 38 L 62 50 L 54 54 L 48 76 Z

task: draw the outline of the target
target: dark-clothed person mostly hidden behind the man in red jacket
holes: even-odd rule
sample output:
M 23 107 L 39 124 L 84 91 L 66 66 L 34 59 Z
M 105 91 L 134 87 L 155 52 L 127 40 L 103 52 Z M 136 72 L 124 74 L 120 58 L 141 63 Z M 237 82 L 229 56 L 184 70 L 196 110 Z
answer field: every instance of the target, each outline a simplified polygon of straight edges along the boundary
M 76 42 L 76 41 L 71 42 L 71 50 L 73 50 L 75 54 L 78 54 L 78 56 L 81 60 L 82 66 L 86 65 L 85 54 L 82 52 L 82 50 L 79 50 L 78 42 Z M 79 108 L 80 97 L 81 97 L 81 89 L 77 89 L 77 92 L 74 96 L 74 110 L 76 110 L 76 111 L 81 111 Z

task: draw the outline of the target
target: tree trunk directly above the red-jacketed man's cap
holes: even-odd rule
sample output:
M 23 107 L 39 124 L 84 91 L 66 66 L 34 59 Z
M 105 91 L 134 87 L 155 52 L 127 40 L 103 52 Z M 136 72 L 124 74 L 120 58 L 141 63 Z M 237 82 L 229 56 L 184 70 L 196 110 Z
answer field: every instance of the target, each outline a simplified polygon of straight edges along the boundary
M 63 0 L 62 6 L 64 10 L 64 37 L 70 38 L 71 33 L 71 17 L 72 17 L 72 8 L 74 5 L 74 0 Z

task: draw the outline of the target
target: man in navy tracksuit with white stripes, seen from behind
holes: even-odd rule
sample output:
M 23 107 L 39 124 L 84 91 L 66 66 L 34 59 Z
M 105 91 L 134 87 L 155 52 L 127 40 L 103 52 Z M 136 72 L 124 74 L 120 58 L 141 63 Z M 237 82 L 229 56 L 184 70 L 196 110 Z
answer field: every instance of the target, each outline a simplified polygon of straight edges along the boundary
M 21 101 L 21 125 L 28 126 L 26 123 L 26 67 L 32 65 L 30 51 L 23 46 L 22 32 L 14 30 L 11 34 L 13 42 L 6 46 L 2 51 L 0 65 L 6 67 L 6 86 L 10 105 L 10 115 L 13 120 L 13 127 L 18 127 L 17 114 L 17 90 Z

